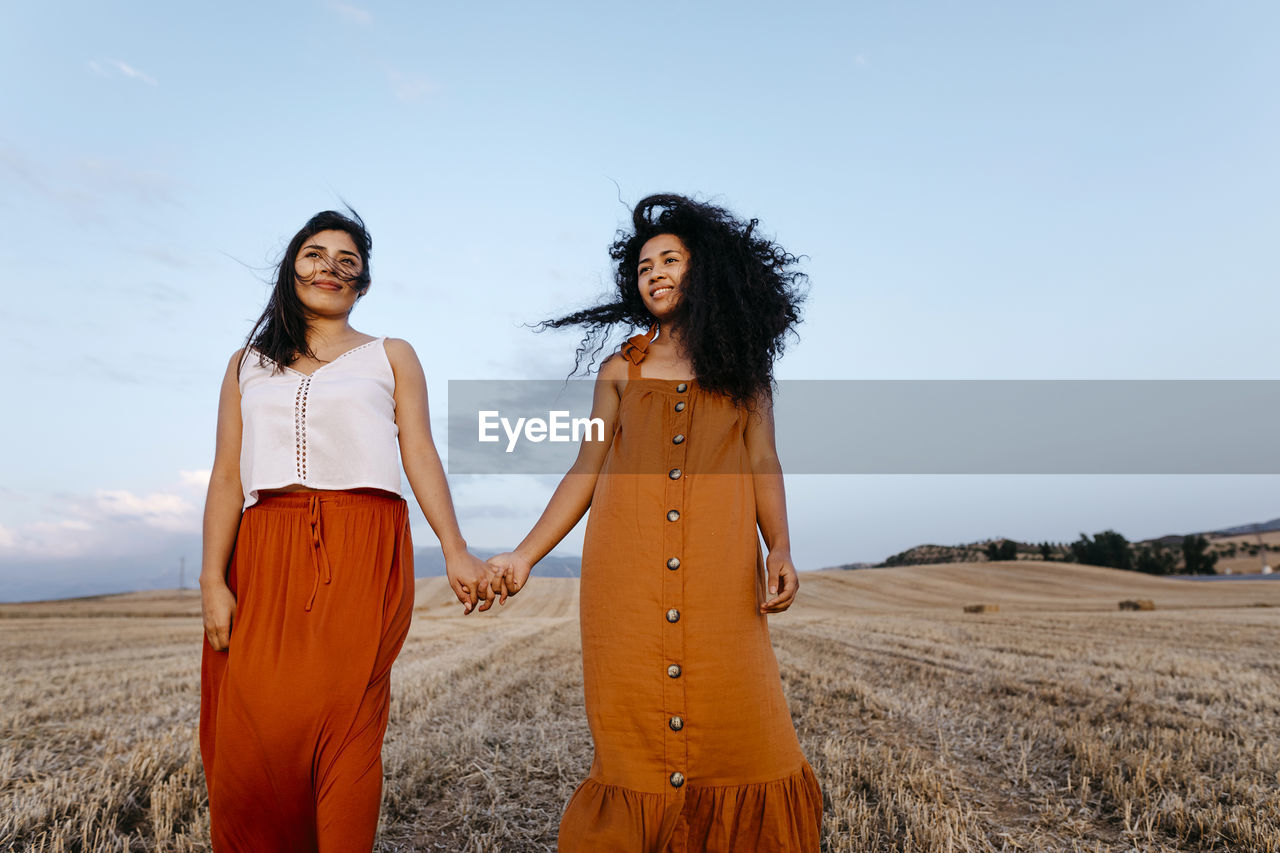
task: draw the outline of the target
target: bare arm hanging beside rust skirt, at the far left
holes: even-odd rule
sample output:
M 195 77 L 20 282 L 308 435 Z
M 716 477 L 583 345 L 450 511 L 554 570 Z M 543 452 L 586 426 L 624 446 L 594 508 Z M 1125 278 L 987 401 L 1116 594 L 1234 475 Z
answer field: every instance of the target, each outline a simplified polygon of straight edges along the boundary
M 227 566 L 239 533 L 241 507 L 244 493 L 239 478 L 241 411 L 239 382 L 236 365 L 243 350 L 232 356 L 223 377 L 218 398 L 218 441 L 214 470 L 209 475 L 205 496 L 204 544 L 200 565 L 200 602 L 205 635 L 215 652 L 230 643 L 232 621 L 236 619 L 236 597 L 227 587 Z

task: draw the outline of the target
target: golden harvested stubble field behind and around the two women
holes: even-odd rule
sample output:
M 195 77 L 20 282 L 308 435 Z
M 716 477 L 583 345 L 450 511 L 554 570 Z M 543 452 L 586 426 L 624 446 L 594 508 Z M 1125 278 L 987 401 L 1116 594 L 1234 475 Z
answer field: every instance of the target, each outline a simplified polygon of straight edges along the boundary
M 378 849 L 554 849 L 590 763 L 576 581 L 466 619 L 443 580 L 417 601 Z M 0 606 L 0 850 L 209 849 L 197 612 L 195 593 Z M 810 573 L 772 625 L 826 850 L 1280 853 L 1280 581 Z

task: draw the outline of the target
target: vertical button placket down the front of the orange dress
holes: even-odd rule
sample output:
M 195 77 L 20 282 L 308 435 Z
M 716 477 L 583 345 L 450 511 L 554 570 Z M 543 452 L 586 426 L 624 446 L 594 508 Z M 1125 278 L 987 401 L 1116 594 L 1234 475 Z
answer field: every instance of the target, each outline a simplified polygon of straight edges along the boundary
M 669 388 L 669 386 L 668 386 Z M 684 729 L 685 720 L 685 683 L 680 678 L 681 667 L 685 662 L 685 625 L 691 616 L 685 612 L 685 573 L 687 561 L 685 560 L 685 484 L 690 475 L 685 470 L 689 448 L 689 386 L 680 383 L 676 386 L 675 400 L 668 397 L 666 416 L 663 418 L 664 434 L 662 447 L 666 448 L 663 459 L 663 498 L 667 521 L 663 524 L 663 552 L 662 552 L 662 619 L 663 656 L 660 674 L 655 674 L 663 680 L 663 715 L 660 724 L 666 740 L 667 774 L 672 788 L 685 784 L 685 771 L 689 770 L 687 738 Z M 654 569 L 659 569 L 654 566 Z M 657 721 L 655 721 L 657 722 Z

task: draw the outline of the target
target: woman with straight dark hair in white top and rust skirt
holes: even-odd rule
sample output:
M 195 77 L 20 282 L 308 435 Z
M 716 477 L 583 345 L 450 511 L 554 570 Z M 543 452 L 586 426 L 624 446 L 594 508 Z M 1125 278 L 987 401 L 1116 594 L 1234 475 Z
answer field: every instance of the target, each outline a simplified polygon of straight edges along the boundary
M 289 241 L 223 379 L 205 503 L 200 748 L 215 850 L 370 850 L 390 667 L 413 610 L 401 462 L 463 612 L 488 610 L 413 348 L 351 327 L 355 211 Z

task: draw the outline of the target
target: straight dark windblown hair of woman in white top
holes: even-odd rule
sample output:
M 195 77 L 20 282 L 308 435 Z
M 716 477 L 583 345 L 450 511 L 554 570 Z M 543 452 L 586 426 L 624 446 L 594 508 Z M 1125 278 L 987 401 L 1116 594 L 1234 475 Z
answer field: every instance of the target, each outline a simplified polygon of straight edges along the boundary
M 349 215 L 347 215 L 349 214 Z M 374 240 L 369 236 L 365 220 L 351 207 L 342 214 L 337 210 L 323 210 L 307 220 L 302 229 L 293 236 L 289 245 L 280 256 L 280 263 L 275 266 L 275 286 L 271 288 L 271 297 L 262 309 L 262 315 L 250 329 L 244 338 L 244 359 L 248 357 L 248 348 L 257 351 L 257 364 L 266 366 L 268 361 L 275 362 L 275 370 L 288 368 L 301 357 L 315 359 L 316 353 L 307 343 L 307 313 L 298 298 L 297 279 L 298 273 L 294 259 L 302 246 L 319 234 L 321 231 L 340 231 L 351 237 L 360 252 L 360 273 L 352 275 L 351 272 L 339 266 L 333 266 L 328 273 L 343 282 L 355 282 L 357 298 L 369 292 L 372 277 L 369 270 L 369 256 L 374 250 Z M 239 368 L 236 373 L 239 375 Z

